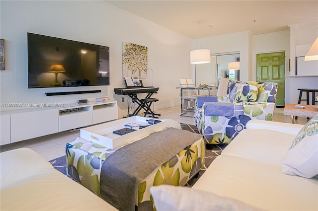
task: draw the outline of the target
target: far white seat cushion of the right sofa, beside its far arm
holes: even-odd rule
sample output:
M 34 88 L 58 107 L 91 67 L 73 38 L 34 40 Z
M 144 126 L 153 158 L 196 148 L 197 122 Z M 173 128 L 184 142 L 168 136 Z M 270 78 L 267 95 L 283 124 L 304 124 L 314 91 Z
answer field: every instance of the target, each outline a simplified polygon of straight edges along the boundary
M 244 129 L 222 154 L 281 166 L 285 153 L 295 138 L 294 135 L 263 129 Z

